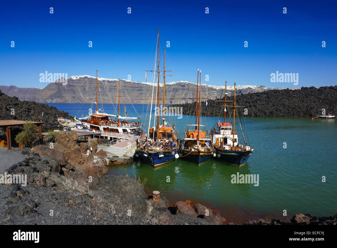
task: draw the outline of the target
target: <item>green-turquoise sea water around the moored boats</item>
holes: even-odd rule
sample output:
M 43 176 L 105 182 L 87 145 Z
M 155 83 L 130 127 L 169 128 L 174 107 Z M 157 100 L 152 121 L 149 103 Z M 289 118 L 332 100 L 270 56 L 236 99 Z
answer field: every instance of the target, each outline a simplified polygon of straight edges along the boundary
M 86 115 L 90 104 L 50 104 L 70 115 Z M 82 106 L 82 108 L 81 108 Z M 134 105 L 146 115 L 146 105 Z M 81 108 L 81 110 L 80 110 Z M 106 113 L 115 113 L 104 104 Z M 121 107 L 121 110 L 124 109 Z M 80 110 L 80 111 L 79 111 Z M 127 105 L 128 116 L 137 116 Z M 188 116 L 174 125 L 182 136 Z M 218 117 L 206 117 L 211 127 Z M 222 121 L 222 119 L 220 119 Z M 250 145 L 254 148 L 242 167 L 217 159 L 197 166 L 183 158 L 153 168 L 135 159 L 128 165 L 113 165 L 111 174 L 140 177 L 145 190 L 159 190 L 172 203 L 193 200 L 209 205 L 227 221 L 251 218 L 291 219 L 297 213 L 330 216 L 337 212 L 336 120 L 310 117 L 245 117 Z M 283 148 L 286 142 L 287 148 Z M 232 184 L 231 175 L 258 174 L 259 185 Z M 167 176 L 170 182 L 167 182 Z M 322 176 L 326 182 L 322 182 Z M 283 216 L 283 210 L 287 216 Z

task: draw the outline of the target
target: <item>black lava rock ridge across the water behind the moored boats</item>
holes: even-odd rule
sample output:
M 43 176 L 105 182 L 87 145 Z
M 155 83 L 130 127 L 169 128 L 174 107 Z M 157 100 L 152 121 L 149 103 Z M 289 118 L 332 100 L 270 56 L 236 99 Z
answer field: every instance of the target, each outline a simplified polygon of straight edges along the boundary
M 290 90 L 268 90 L 263 92 L 247 93 L 237 95 L 236 105 L 245 106 L 237 110 L 240 115 L 245 116 L 272 116 L 272 117 L 314 117 L 326 110 L 326 114 L 337 114 L 337 86 L 325 87 L 302 87 L 300 89 Z M 222 116 L 224 107 L 222 99 L 207 100 L 201 102 L 203 115 Z M 233 101 L 234 97 L 227 97 L 227 101 Z M 229 102 L 231 103 L 231 102 Z M 183 114 L 194 114 L 195 105 L 176 104 L 170 107 L 182 107 Z M 228 104 L 227 105 L 231 105 Z M 227 114 L 230 114 L 233 108 L 228 107 Z M 247 109 L 246 114 L 244 109 Z

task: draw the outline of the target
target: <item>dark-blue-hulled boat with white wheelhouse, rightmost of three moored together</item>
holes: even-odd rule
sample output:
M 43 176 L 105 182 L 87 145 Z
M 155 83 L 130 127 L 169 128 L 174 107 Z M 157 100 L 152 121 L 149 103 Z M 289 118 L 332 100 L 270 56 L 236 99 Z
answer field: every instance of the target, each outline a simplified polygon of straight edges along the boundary
M 238 142 L 238 133 L 235 132 L 235 108 L 244 107 L 236 105 L 236 83 L 234 83 L 234 101 L 227 101 L 227 81 L 225 83 L 225 100 L 224 102 L 224 122 L 216 123 L 216 127 L 213 128 L 212 142 L 217 153 L 217 157 L 229 164 L 234 164 L 237 166 L 244 165 L 247 163 L 249 156 L 251 155 L 253 149 L 250 147 L 244 136 L 241 122 L 240 127 L 242 131 L 242 135 L 244 137 L 245 144 L 240 144 Z M 234 102 L 233 106 L 226 105 L 227 102 Z M 226 106 L 233 107 L 233 126 L 231 123 L 226 122 Z

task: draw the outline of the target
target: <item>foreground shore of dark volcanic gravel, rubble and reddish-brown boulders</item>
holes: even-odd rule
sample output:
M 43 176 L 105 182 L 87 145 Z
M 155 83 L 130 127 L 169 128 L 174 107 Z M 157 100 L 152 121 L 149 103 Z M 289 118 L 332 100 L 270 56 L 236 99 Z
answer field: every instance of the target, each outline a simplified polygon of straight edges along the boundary
M 0 162 L 2 175 L 26 175 L 26 185 L 2 181 L 0 184 L 0 224 L 164 224 L 236 225 L 226 223 L 219 213 L 192 201 L 168 202 L 147 196 L 137 180 L 122 175 L 107 175 L 97 144 L 88 157 L 88 143 L 74 131 L 55 139 L 54 148 L 38 145 L 32 149 L 0 150 L 11 156 Z M 14 164 L 8 166 L 12 161 Z M 17 177 L 13 177 L 17 178 Z M 4 177 L 2 177 L 4 180 Z M 258 220 L 245 225 L 336 224 L 337 216 L 313 217 L 297 214 L 291 222 Z

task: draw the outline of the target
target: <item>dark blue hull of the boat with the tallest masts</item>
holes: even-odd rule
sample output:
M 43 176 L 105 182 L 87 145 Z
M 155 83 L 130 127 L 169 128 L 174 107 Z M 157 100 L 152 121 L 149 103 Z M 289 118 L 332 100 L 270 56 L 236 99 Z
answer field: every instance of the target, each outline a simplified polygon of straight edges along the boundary
M 137 153 L 139 154 L 140 159 L 144 162 L 157 167 L 162 164 L 166 164 L 174 160 L 175 155 L 177 154 L 178 148 L 172 151 L 148 151 L 148 150 L 138 150 Z M 163 156 L 161 156 L 163 155 Z

